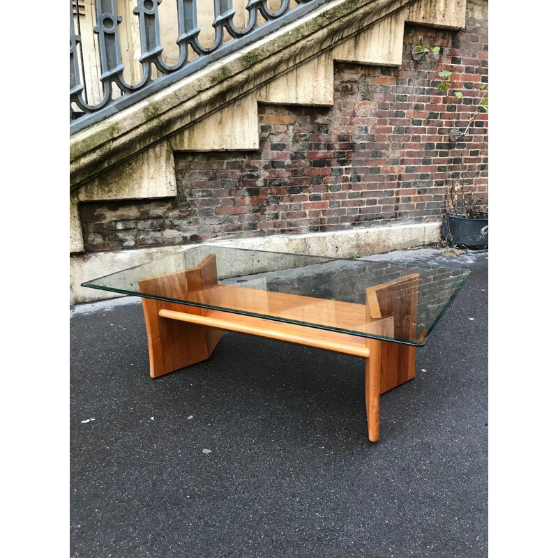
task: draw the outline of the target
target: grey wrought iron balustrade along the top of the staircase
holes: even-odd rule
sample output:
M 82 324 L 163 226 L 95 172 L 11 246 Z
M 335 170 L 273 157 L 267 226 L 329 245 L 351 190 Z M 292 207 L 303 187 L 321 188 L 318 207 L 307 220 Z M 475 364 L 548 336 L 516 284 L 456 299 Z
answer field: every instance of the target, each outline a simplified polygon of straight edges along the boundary
M 175 7 L 169 6 L 173 0 L 70 0 L 70 133 L 102 121 L 329 1 L 176 0 Z M 160 11 L 165 7 L 166 15 Z M 178 45 L 172 55 L 161 40 L 161 16 L 165 15 L 168 35 L 170 8 L 176 8 L 173 39 Z M 200 14 L 207 20 L 208 13 L 208 23 L 213 19 L 213 43 L 204 45 L 200 36 L 204 26 L 198 22 Z M 85 33 L 89 33 L 86 45 Z M 205 32 L 206 40 L 207 36 Z

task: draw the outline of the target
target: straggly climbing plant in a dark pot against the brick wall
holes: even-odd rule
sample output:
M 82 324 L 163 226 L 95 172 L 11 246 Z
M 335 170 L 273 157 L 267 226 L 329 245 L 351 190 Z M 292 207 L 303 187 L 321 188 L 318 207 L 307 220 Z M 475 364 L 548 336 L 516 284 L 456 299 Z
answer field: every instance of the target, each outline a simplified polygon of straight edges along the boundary
M 438 73 L 441 81 L 437 88 L 450 95 L 452 88 L 451 72 L 444 70 Z M 481 84 L 481 100 L 476 106 L 472 106 L 469 119 L 464 126 L 453 126 L 448 133 L 448 140 L 451 144 L 450 154 L 453 154 L 453 161 L 458 160 L 457 169 L 452 169 L 448 165 L 446 177 L 446 191 L 444 195 L 444 217 L 442 220 L 442 236 L 452 243 L 465 244 L 468 246 L 488 246 L 488 203 L 485 199 L 480 199 L 476 194 L 475 179 L 480 174 L 480 169 L 476 165 L 474 172 L 466 169 L 463 162 L 463 154 L 467 145 L 467 135 L 479 114 L 488 113 L 488 90 L 486 84 Z M 462 91 L 453 89 L 453 99 L 459 103 L 463 99 Z M 457 112 L 456 118 L 457 118 Z M 478 150 L 478 156 L 485 148 Z M 457 157 L 455 157 L 457 155 Z

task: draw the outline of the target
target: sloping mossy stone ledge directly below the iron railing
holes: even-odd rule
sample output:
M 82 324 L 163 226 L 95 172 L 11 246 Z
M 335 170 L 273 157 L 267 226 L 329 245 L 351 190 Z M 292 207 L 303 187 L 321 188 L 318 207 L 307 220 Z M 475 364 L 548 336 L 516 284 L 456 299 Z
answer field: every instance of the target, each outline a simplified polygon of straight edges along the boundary
M 336 0 L 70 139 L 70 187 L 417 0 Z

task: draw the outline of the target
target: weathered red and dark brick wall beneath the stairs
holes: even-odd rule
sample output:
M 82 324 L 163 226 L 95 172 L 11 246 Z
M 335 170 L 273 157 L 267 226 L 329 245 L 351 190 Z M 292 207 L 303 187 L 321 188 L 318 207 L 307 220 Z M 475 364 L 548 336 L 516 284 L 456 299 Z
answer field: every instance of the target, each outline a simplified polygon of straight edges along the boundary
M 488 83 L 487 7 L 469 1 L 460 32 L 407 25 L 400 68 L 336 63 L 331 109 L 260 105 L 260 151 L 176 153 L 176 199 L 81 204 L 86 251 L 439 221 L 458 172 L 488 199 L 488 115 L 448 141 Z M 442 51 L 416 62 L 415 45 Z

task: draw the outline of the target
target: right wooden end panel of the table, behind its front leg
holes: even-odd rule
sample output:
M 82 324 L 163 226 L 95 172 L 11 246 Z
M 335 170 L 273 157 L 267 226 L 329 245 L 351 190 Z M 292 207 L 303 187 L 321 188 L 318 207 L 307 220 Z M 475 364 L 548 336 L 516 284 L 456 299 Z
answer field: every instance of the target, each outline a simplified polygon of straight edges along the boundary
M 380 317 L 393 317 L 393 337 L 415 341 L 418 281 L 418 273 L 412 273 L 366 289 L 371 324 Z M 381 351 L 381 393 L 414 378 L 415 347 L 382 341 Z

